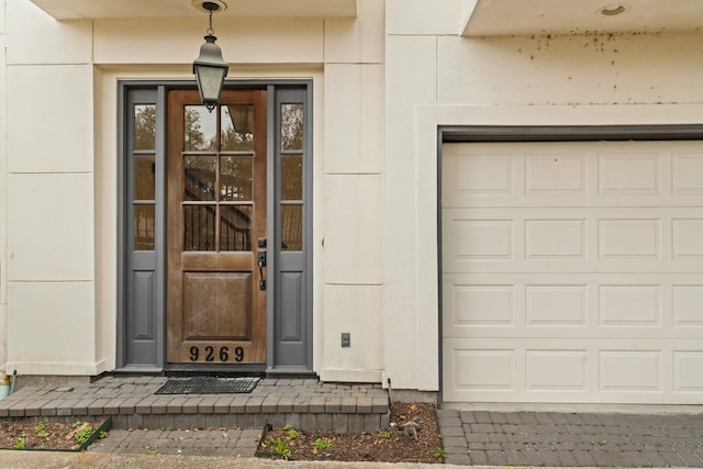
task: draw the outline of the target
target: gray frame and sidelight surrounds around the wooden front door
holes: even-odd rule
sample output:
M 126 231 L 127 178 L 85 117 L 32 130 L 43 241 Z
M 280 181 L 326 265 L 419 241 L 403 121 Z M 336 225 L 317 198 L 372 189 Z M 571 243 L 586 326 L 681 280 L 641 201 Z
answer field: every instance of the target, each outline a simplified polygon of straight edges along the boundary
M 116 372 L 172 371 L 313 375 L 312 324 L 312 80 L 226 80 L 225 87 L 266 89 L 267 99 L 267 362 L 189 365 L 166 362 L 166 115 L 170 89 L 185 80 L 119 82 Z M 301 252 L 281 249 L 281 104 L 302 104 L 303 205 Z M 135 252 L 133 225 L 134 104 L 156 107 L 155 249 Z M 136 152 L 138 153 L 138 152 Z M 147 202 L 147 204 L 149 204 Z M 136 279 L 136 280 L 135 280 Z M 292 280 L 292 281 L 289 281 Z M 291 321 L 292 320 L 292 321 Z M 138 330 L 138 331 L 137 331 Z M 292 361 L 291 361 L 292 358 Z

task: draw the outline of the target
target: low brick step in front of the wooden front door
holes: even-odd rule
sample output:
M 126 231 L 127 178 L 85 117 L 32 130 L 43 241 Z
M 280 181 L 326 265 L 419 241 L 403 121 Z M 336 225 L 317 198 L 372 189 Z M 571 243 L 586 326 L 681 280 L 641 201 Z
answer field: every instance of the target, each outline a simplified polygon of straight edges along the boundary
M 264 379 L 248 394 L 154 394 L 163 377 L 108 377 L 75 387 L 26 387 L 0 401 L 0 418 L 101 420 L 116 428 L 263 428 L 376 432 L 389 425 L 388 392 L 378 384 Z

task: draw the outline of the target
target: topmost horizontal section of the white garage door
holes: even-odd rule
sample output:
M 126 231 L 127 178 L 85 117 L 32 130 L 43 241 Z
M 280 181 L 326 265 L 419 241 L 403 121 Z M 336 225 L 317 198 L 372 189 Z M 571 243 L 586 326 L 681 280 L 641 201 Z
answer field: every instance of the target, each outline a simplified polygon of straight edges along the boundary
M 445 145 L 443 206 L 700 205 L 698 142 Z

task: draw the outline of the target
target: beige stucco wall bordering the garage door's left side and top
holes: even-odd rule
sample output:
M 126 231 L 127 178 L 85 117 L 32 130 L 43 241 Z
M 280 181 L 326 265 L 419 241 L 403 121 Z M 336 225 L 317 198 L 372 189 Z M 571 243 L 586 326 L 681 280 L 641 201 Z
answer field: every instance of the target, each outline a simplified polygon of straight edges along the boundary
M 459 36 L 468 3 L 387 1 L 386 373 L 437 390 L 437 126 L 701 123 L 703 35 Z

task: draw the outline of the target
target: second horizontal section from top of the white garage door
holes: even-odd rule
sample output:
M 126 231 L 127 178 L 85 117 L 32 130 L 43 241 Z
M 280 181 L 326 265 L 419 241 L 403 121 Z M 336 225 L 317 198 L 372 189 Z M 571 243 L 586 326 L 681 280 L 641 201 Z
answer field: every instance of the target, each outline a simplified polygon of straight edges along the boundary
M 443 245 L 446 272 L 700 272 L 703 261 L 700 208 L 444 209 L 442 214 L 443 235 L 451 239 Z

